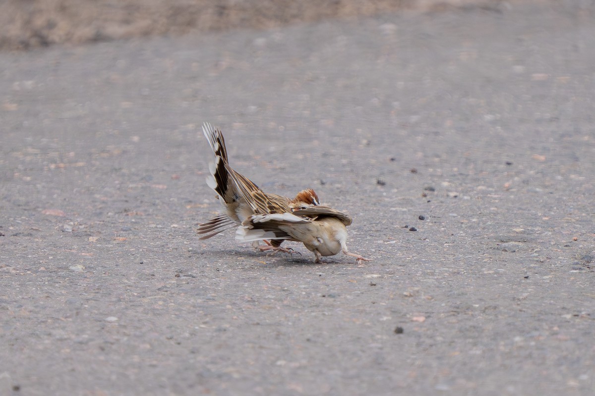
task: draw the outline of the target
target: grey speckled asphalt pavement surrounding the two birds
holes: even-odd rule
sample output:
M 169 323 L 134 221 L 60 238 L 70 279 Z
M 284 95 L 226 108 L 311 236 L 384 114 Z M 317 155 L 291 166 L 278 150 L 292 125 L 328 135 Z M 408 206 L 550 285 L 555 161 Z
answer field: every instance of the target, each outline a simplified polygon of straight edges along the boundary
M 593 395 L 593 8 L 0 53 L 0 394 Z M 198 240 L 203 121 L 374 261 Z

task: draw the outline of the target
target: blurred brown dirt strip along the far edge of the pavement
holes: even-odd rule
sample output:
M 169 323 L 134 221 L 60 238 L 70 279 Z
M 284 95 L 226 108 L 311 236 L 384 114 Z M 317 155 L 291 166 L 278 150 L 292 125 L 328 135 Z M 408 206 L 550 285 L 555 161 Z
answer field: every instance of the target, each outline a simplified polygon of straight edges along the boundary
M 0 2 L 0 49 L 270 28 L 324 18 L 469 4 L 497 7 L 500 0 L 4 0 Z

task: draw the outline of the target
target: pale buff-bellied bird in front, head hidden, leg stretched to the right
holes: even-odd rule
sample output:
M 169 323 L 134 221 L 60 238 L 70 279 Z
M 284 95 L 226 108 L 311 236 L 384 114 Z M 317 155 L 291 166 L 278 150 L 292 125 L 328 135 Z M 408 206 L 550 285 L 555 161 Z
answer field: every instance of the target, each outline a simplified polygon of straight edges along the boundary
M 334 256 L 339 252 L 362 261 L 371 261 L 347 249 L 347 226 L 351 217 L 331 207 L 317 205 L 297 209 L 291 213 L 253 214 L 242 221 L 236 230 L 236 239 L 245 242 L 270 240 L 293 240 L 302 242 L 314 252 L 314 262 L 322 256 Z

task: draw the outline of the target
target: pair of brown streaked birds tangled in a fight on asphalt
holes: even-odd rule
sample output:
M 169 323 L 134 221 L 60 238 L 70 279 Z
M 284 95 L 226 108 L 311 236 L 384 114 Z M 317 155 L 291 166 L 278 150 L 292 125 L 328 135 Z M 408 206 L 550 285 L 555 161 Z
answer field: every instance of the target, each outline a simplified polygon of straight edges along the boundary
M 298 192 L 293 199 L 265 193 L 231 168 L 219 129 L 205 122 L 202 132 L 215 154 L 206 183 L 217 192 L 225 213 L 198 226 L 197 232 L 203 235 L 200 239 L 237 227 L 236 239 L 252 242 L 261 251 L 292 253 L 293 249 L 281 247 L 284 240 L 292 240 L 314 252 L 315 262 L 340 251 L 355 257 L 357 262 L 369 261 L 347 250 L 346 226 L 352 221 L 347 214 L 321 205 L 312 189 Z M 261 240 L 265 245 L 259 244 Z

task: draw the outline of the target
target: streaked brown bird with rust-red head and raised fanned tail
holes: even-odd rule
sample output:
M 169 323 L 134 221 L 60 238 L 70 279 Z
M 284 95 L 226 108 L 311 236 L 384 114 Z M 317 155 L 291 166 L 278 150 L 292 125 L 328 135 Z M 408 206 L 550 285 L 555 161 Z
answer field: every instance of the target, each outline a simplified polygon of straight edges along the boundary
M 231 168 L 220 129 L 213 128 L 210 123 L 205 122 L 202 132 L 215 156 L 214 162 L 209 163 L 206 184 L 217 193 L 225 211 L 199 224 L 196 232 L 203 235 L 199 239 L 209 239 L 220 232 L 240 226 L 246 218 L 254 214 L 286 213 L 320 205 L 318 195 L 311 188 L 298 192 L 293 199 L 265 193 L 252 180 Z M 293 249 L 281 248 L 282 242 L 283 240 L 265 240 L 266 245 L 259 245 L 258 241 L 255 241 L 252 246 L 261 251 L 293 252 Z

